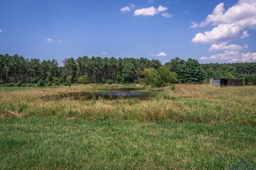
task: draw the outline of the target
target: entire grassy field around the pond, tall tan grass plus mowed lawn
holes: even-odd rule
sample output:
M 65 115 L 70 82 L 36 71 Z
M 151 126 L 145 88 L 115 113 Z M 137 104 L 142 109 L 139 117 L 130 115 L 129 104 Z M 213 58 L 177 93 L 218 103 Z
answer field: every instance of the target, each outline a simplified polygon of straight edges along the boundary
M 133 85 L 138 86 L 138 85 Z M 229 169 L 256 163 L 256 87 L 176 84 L 75 100 L 107 84 L 0 88 L 0 169 Z

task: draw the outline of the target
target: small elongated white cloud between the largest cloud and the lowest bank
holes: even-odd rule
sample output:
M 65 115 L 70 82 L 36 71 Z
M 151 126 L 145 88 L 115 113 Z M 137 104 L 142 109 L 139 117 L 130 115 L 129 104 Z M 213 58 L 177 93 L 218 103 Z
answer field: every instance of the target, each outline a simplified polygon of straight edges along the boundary
M 226 43 L 221 43 L 219 45 L 217 44 L 213 44 L 210 49 L 208 49 L 208 51 L 222 51 L 222 50 L 230 50 L 230 51 L 240 51 L 244 48 L 248 48 L 248 45 L 244 45 L 244 47 L 242 47 L 241 45 L 236 45 L 236 44 L 231 44 L 231 45 L 227 45 L 228 42 Z

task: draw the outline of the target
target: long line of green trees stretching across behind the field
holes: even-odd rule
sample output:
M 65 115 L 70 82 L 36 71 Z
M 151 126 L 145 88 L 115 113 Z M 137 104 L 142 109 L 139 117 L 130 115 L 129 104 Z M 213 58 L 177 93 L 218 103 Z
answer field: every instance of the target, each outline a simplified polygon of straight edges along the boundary
M 162 86 L 165 83 L 202 83 L 211 77 L 246 78 L 256 84 L 256 63 L 200 64 L 195 59 L 171 59 L 162 65 L 146 58 L 78 57 L 62 61 L 25 59 L 22 56 L 0 55 L 0 84 L 72 83 L 144 83 Z

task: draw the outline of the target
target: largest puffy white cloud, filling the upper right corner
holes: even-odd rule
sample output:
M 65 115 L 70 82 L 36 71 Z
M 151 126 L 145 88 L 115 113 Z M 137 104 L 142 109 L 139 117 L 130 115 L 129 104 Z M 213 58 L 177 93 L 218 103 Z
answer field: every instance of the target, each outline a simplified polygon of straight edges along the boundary
M 244 28 L 256 29 L 256 1 L 239 0 L 237 4 L 225 11 L 224 3 L 218 4 L 212 14 L 209 14 L 204 21 L 196 25 L 192 23 L 191 27 L 204 27 L 206 25 L 215 25 L 212 31 L 198 33 L 192 39 L 194 43 L 221 43 L 231 41 L 238 37 L 238 33 Z M 243 33 L 242 38 L 248 36 Z

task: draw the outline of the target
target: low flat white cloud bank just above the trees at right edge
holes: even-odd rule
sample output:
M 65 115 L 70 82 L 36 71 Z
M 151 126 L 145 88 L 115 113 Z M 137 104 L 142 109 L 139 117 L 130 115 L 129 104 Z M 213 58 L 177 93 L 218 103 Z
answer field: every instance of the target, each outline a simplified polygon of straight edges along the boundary
M 243 63 L 250 63 L 256 62 L 256 53 L 239 53 L 239 51 L 224 51 L 224 53 L 218 53 L 212 55 L 211 57 L 201 57 L 201 60 L 208 61 L 220 61 L 224 60 L 228 63 L 235 63 L 235 62 L 243 62 Z

